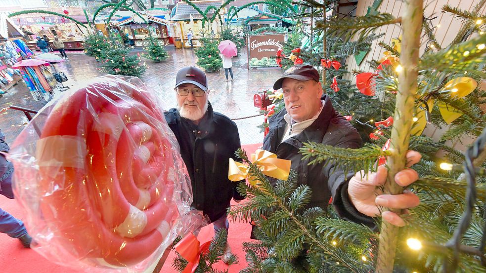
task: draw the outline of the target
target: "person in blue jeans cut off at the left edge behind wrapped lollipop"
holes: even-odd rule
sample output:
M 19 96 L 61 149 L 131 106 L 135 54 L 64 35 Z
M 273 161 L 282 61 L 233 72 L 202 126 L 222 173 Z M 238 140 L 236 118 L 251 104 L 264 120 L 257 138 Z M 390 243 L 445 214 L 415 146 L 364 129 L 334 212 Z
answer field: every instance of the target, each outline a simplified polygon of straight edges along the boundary
M 13 199 L 12 177 L 13 164 L 2 153 L 8 153 L 10 147 L 5 142 L 5 135 L 0 130 L 0 194 Z M 0 233 L 20 240 L 25 247 L 30 247 L 32 237 L 27 234 L 24 223 L 0 208 Z

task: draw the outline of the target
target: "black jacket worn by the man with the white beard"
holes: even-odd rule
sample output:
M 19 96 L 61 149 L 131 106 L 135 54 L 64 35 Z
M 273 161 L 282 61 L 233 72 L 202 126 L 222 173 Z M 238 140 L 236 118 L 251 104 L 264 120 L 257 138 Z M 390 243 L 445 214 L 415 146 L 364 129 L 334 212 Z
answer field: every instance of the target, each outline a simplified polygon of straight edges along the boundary
M 229 158 L 237 160 L 235 151 L 240 148 L 240 136 L 236 124 L 228 117 L 213 112 L 211 104 L 198 125 L 194 128 L 194 150 L 189 143 L 185 124 L 176 109 L 164 113 L 169 127 L 176 135 L 182 159 L 191 178 L 193 203 L 214 222 L 226 214 L 229 202 L 234 196 L 241 200 L 236 186 L 238 182 L 228 179 Z M 190 121 L 189 121 L 190 122 Z

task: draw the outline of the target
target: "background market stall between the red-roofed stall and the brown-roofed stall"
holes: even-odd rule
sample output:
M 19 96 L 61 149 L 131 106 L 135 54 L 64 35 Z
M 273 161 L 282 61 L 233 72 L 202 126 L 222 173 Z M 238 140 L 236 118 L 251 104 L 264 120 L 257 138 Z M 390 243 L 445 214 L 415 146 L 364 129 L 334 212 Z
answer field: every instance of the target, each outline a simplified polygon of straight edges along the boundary
M 122 18 L 114 26 L 120 29 L 121 35 L 133 40 L 135 46 L 147 46 L 147 39 L 150 35 L 159 39 L 159 44 L 168 45 L 173 42 L 169 33 L 170 21 L 164 19 L 164 15 L 147 15 L 143 14 L 145 22 L 137 15 L 128 18 Z M 162 18 L 164 16 L 164 18 Z

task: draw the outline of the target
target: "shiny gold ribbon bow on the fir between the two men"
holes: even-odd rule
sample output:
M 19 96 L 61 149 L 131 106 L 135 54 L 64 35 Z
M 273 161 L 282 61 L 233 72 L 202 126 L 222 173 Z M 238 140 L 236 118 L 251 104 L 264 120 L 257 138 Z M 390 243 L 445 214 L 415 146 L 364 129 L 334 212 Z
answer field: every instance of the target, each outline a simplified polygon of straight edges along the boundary
M 280 180 L 287 180 L 289 178 L 290 160 L 277 158 L 277 155 L 273 153 L 258 149 L 255 154 L 250 156 L 250 161 L 266 176 Z M 248 165 L 236 162 L 233 158 L 229 158 L 228 179 L 231 181 L 240 181 L 248 178 L 251 185 L 258 187 L 260 181 L 248 177 L 249 170 Z

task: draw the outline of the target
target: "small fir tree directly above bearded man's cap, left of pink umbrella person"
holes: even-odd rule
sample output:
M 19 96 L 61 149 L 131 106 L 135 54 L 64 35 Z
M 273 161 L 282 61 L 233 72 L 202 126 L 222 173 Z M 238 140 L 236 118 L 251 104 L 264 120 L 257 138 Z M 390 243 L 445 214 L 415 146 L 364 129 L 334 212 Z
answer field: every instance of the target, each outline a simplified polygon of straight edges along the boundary
M 197 65 L 206 72 L 217 72 L 222 67 L 220 50 L 218 49 L 219 40 L 203 38 L 203 46 L 196 49 Z

